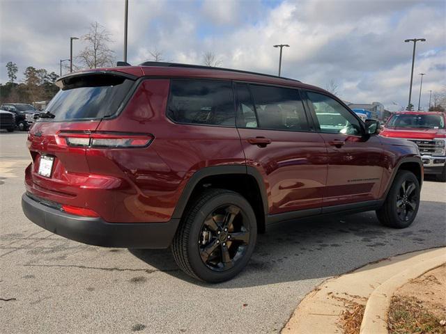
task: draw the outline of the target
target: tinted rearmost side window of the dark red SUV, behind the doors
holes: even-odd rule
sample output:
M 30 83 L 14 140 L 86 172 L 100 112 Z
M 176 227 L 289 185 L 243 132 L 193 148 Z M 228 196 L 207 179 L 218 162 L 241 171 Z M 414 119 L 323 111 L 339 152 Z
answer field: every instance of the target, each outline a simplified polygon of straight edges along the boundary
M 235 126 L 231 82 L 172 80 L 167 116 L 180 123 Z

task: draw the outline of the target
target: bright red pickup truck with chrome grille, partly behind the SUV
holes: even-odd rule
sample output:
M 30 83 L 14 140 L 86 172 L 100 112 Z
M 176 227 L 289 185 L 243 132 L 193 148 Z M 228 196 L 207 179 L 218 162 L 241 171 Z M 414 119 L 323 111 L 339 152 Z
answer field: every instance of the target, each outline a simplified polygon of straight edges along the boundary
M 403 111 L 387 120 L 381 135 L 413 141 L 422 155 L 424 174 L 436 175 L 438 181 L 446 182 L 445 123 L 445 113 Z

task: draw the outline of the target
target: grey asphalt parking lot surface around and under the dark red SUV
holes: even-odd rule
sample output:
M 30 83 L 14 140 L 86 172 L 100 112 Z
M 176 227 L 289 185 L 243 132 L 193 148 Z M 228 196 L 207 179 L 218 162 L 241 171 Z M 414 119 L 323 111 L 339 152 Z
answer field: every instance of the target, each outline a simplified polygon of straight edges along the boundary
M 170 250 L 87 246 L 28 221 L 25 140 L 0 133 L 0 333 L 277 333 L 326 278 L 446 246 L 446 185 L 426 180 L 410 228 L 374 212 L 284 223 L 259 236 L 240 276 L 197 283 Z

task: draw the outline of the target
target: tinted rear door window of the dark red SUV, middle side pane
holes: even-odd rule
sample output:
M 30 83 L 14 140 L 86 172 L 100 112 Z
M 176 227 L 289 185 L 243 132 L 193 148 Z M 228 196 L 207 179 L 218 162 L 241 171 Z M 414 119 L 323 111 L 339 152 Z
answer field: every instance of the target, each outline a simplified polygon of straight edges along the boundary
M 256 106 L 259 127 L 279 130 L 309 130 L 298 90 L 249 85 Z

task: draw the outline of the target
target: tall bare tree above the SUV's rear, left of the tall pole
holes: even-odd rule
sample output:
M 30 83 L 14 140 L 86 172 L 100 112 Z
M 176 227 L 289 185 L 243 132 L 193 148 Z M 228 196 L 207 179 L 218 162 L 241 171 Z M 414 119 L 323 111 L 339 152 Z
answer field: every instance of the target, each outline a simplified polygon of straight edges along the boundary
M 113 66 L 114 51 L 108 44 L 113 42 L 110 33 L 98 22 L 90 25 L 90 31 L 82 36 L 87 45 L 78 55 L 77 59 L 88 68 Z

